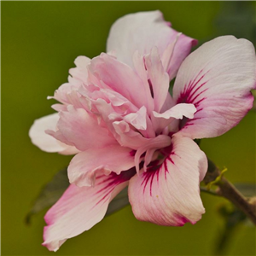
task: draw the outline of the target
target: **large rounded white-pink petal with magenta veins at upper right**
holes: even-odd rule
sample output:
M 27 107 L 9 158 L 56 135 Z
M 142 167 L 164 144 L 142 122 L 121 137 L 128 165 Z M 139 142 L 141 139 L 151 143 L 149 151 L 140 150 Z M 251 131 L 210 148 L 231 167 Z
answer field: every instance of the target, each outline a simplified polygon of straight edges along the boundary
M 191 138 L 229 131 L 253 106 L 256 59 L 253 44 L 232 36 L 215 38 L 183 61 L 173 88 L 177 103 L 193 103 L 197 112 L 181 131 Z

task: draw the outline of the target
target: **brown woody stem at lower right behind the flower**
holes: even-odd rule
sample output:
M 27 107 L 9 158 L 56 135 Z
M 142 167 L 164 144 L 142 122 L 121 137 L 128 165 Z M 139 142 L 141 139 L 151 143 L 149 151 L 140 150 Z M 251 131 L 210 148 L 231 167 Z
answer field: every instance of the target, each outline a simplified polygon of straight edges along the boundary
M 204 182 L 206 184 L 211 183 L 219 176 L 220 171 L 218 167 L 215 166 L 211 160 L 208 160 L 208 171 L 206 177 L 204 178 Z M 225 177 L 221 177 L 220 181 L 215 184 L 218 186 L 216 194 L 221 195 L 231 201 L 238 209 L 244 212 L 247 217 L 251 219 L 253 224 L 256 225 L 256 205 L 247 201 L 247 198 L 241 195 L 236 187 Z

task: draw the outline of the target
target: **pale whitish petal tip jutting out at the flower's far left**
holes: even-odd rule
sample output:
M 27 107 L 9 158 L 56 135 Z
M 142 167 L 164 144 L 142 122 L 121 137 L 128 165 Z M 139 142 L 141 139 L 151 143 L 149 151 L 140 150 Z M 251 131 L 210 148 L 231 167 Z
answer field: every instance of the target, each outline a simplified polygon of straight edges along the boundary
M 59 152 L 60 154 L 79 153 L 77 148 L 61 143 L 45 133 L 48 129 L 56 131 L 56 125 L 59 119 L 60 116 L 58 113 L 36 119 L 29 130 L 29 137 L 32 139 L 32 143 L 46 152 Z

